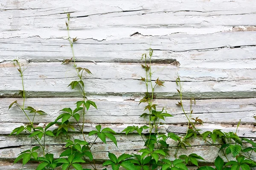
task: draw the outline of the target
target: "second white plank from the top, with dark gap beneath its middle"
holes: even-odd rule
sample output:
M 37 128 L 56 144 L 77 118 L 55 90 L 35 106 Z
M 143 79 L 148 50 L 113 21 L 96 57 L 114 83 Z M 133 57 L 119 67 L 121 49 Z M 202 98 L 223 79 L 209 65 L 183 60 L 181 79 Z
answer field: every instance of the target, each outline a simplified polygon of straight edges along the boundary
M 158 50 L 154 52 L 153 59 L 219 59 L 225 62 L 226 59 L 254 59 L 255 35 L 255 31 L 204 35 L 172 34 L 162 37 L 137 35 L 108 41 L 80 39 L 74 46 L 77 61 L 140 62 L 141 55 L 151 47 Z M 61 61 L 72 56 L 68 41 L 63 39 L 16 37 L 0 39 L 0 43 L 0 62 L 12 60 L 17 56 L 36 62 Z M 240 46 L 246 48 L 229 48 Z M 232 60 L 229 62 L 233 63 Z M 232 65 L 234 67 L 234 64 Z M 181 64 L 181 67 L 185 65 Z

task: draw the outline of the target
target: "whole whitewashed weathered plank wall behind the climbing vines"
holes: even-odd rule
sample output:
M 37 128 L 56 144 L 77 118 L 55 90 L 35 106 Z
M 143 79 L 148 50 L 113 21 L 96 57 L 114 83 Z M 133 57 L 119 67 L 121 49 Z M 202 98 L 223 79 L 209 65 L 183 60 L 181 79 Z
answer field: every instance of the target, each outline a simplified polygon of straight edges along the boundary
M 21 79 L 11 60 L 19 59 L 27 67 L 26 105 L 48 113 L 36 117 L 39 126 L 81 100 L 79 91 L 67 88 L 76 71 L 72 65 L 61 65 L 72 57 L 65 12 L 71 13 L 70 37 L 79 39 L 74 45 L 77 65 L 93 73 L 84 82 L 98 110 L 88 111 L 86 131 L 97 124 L 120 132 L 128 125 L 146 123 L 139 118 L 145 106 L 138 106 L 145 92 L 139 80 L 145 75 L 140 58 L 153 48 L 152 68 L 159 70 L 153 79 L 160 77 L 166 86 L 156 89 L 156 102 L 174 115 L 166 119 L 163 132 L 186 132 L 187 120 L 175 105 L 179 74 L 186 99 L 197 99 L 193 117 L 205 122 L 202 130 L 235 131 L 241 119 L 239 136 L 256 139 L 256 1 L 0 0 L 0 169 L 36 167 L 33 163 L 11 166 L 20 151 L 37 144 L 26 134 L 8 136 L 28 123 L 17 107 L 7 111 L 10 103 L 22 101 L 17 98 Z M 188 111 L 189 100 L 184 105 Z M 136 153 L 143 148 L 139 136 L 116 138 L 118 148 L 97 141 L 96 159 L 105 160 L 109 151 Z M 205 162 L 214 161 L 216 148 L 201 140 L 191 142 L 193 146 L 180 154 L 194 152 Z M 64 138 L 48 138 L 47 144 L 47 151 L 57 156 Z

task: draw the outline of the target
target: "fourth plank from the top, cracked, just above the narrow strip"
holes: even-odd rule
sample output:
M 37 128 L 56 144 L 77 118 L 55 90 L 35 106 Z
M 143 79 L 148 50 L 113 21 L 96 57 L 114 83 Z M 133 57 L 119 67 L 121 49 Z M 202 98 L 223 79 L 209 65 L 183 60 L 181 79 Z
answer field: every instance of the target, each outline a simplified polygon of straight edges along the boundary
M 105 98 L 108 100 L 108 98 Z M 144 124 L 147 121 L 139 116 L 144 113 L 145 104 L 132 100 L 122 101 L 122 98 L 114 98 L 119 102 L 105 100 L 94 100 L 98 110 L 91 108 L 85 115 L 87 123 L 110 123 L 110 124 Z M 22 102 L 22 99 L 0 98 L 0 122 L 28 122 L 25 115 L 17 106 L 8 111 L 9 105 L 15 101 Z M 81 98 L 28 98 L 26 105 L 37 110 L 43 110 L 48 115 L 36 116 L 35 122 L 52 122 L 62 108 L 76 108 L 75 103 Z M 110 100 L 113 100 L 112 98 Z M 121 102 L 122 101 L 122 102 Z M 159 108 L 165 107 L 166 111 L 173 117 L 166 118 L 167 124 L 186 124 L 187 119 L 181 109 L 175 105 L 177 100 L 157 99 L 154 101 Z M 231 124 L 236 125 L 241 119 L 242 124 L 255 124 L 256 98 L 251 99 L 207 99 L 197 100 L 192 106 L 192 117 L 199 116 L 205 123 Z M 190 100 L 183 100 L 184 109 L 189 113 Z M 32 116 L 32 115 L 29 115 Z

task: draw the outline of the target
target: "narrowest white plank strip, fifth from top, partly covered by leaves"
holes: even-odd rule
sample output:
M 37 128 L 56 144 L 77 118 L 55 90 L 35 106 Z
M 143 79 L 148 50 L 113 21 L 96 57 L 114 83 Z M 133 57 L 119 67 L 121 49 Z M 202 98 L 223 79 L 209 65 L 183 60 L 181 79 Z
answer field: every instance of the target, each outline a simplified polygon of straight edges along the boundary
M 44 127 L 46 126 L 48 123 L 39 123 L 38 126 L 40 127 Z M 93 123 L 85 123 L 84 124 L 84 132 L 88 133 L 91 130 L 95 130 L 95 126 L 97 124 L 93 124 Z M 113 129 L 116 133 L 125 133 L 122 132 L 126 127 L 128 126 L 144 126 L 146 124 L 102 124 L 102 128 L 105 127 L 110 127 L 111 129 Z M 10 122 L 5 122 L 5 123 L 0 123 L 0 134 L 10 134 L 12 132 L 12 130 L 16 127 L 20 127 L 20 126 L 25 126 L 25 124 L 23 123 L 10 123 Z M 80 123 L 80 126 L 82 126 L 82 124 Z M 11 128 L 10 128 L 11 127 Z M 75 132 L 80 132 L 78 125 L 74 124 L 75 127 Z M 237 126 L 236 125 L 227 125 L 227 124 L 207 124 L 204 123 L 204 125 L 196 125 L 197 129 L 200 129 L 200 133 L 204 133 L 205 131 L 213 131 L 215 129 L 220 129 L 223 132 L 236 132 L 236 134 L 240 137 L 246 137 L 246 138 L 256 138 L 256 127 L 254 127 L 254 125 L 240 125 L 239 128 L 236 130 Z M 57 126 L 52 126 L 49 128 L 49 130 L 54 130 L 56 129 Z M 153 132 L 155 130 L 153 129 Z M 170 124 L 165 124 L 165 125 L 161 125 L 158 130 L 159 133 L 177 133 L 177 134 L 181 134 L 183 135 L 184 133 L 187 132 L 187 125 L 170 125 Z M 73 130 L 70 130 L 70 132 L 74 132 Z M 24 134 L 26 134 L 27 132 L 22 132 Z M 136 131 L 134 132 L 136 133 Z M 143 134 L 148 134 L 149 131 L 147 130 L 143 130 L 142 131 Z M 3 137 L 1 140 L 6 141 L 6 140 L 10 140 L 10 139 L 6 139 L 6 137 Z M 128 140 L 128 139 L 126 139 Z M 135 139 L 134 139 L 135 140 Z M 140 140 L 140 139 L 139 139 Z M 9 145 L 9 143 L 7 144 Z M 5 144 L 2 144 L 2 146 L 5 146 Z

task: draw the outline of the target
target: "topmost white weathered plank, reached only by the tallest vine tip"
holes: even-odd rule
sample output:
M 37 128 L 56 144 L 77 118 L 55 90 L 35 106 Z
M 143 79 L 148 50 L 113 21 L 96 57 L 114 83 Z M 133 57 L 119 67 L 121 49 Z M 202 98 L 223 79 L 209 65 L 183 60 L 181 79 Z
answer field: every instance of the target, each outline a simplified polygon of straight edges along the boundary
M 95 4 L 81 2 L 80 6 L 74 5 L 72 7 L 60 1 L 48 2 L 46 3 L 48 6 L 40 3 L 27 3 L 26 1 L 15 2 L 15 4 L 17 5 L 13 6 L 12 3 L 3 5 L 2 11 L 0 11 L 6 22 L 1 28 L 1 37 L 58 37 L 61 35 L 60 30 L 65 28 L 66 14 L 64 11 L 72 12 L 75 18 L 72 18 L 71 25 L 83 33 L 81 36 L 99 40 L 106 39 L 106 37 L 128 37 L 138 31 L 145 35 L 186 32 L 187 26 L 200 28 L 200 31 L 193 31 L 195 29 L 192 28 L 190 32 L 195 34 L 195 32 L 212 33 L 232 30 L 232 26 L 255 25 L 253 20 L 255 9 L 252 8 L 254 2 L 249 1 L 221 1 L 218 3 L 186 1 L 180 3 L 159 0 L 157 2 L 129 2 L 130 5 L 128 6 L 124 6 L 126 3 L 122 3 L 122 1 L 118 3 L 99 1 Z M 104 6 L 103 9 L 102 6 Z M 240 8 L 241 6 L 244 8 Z M 169 28 L 173 28 L 173 25 L 175 27 L 170 31 Z M 201 26 L 208 28 L 202 29 Z M 221 26 L 227 26 L 227 28 Z M 105 31 L 96 29 L 102 27 L 107 29 Z M 159 31 L 159 29 L 162 30 Z M 9 30 L 12 30 L 12 34 Z M 23 34 L 20 34 L 20 31 Z

